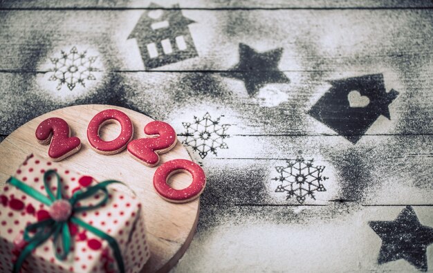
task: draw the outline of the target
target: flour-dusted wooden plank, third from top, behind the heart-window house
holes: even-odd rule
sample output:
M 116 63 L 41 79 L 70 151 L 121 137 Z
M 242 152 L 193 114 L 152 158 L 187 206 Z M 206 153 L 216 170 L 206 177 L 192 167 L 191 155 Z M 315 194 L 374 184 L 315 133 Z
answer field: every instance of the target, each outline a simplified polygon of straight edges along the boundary
M 48 81 L 49 73 L 0 73 L 3 97 L 0 133 L 11 133 L 33 117 L 53 109 L 99 102 L 168 120 L 180 126 L 179 132 L 183 129 L 182 122 L 192 122 L 194 115 L 203 116 L 208 111 L 215 118 L 224 115 L 221 122 L 232 124 L 229 135 L 338 135 L 307 113 L 329 88 L 330 84 L 325 82 L 328 77 L 319 77 L 314 72 L 286 75 L 293 84 L 270 84 L 262 88 L 259 97 L 251 98 L 241 81 L 222 77 L 220 73 L 102 73 L 94 86 L 77 87 L 73 91 L 68 88 L 57 91 L 56 84 Z M 400 95 L 389 106 L 391 120 L 379 117 L 366 135 L 431 135 L 432 78 L 432 70 L 421 69 L 404 78 L 385 74 L 387 90 L 394 88 Z M 196 103 L 188 104 L 193 98 Z M 342 144 L 350 143 L 344 138 L 335 139 L 341 139 Z

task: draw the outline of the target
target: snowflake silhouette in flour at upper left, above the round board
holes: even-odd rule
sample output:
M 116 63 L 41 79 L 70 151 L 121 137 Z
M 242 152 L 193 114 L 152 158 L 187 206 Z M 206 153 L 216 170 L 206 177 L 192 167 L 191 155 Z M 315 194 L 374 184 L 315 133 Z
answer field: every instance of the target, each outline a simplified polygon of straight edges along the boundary
M 53 68 L 50 68 L 50 72 L 53 73 L 48 79 L 50 81 L 57 81 L 57 90 L 62 88 L 63 84 L 68 86 L 69 90 L 73 90 L 77 84 L 81 84 L 85 87 L 85 80 L 95 80 L 93 72 L 99 72 L 98 68 L 95 68 L 94 63 L 98 57 L 88 57 L 86 50 L 82 53 L 78 53 L 77 48 L 74 46 L 71 48 L 69 53 L 61 51 L 61 57 L 51 58 L 50 61 L 53 63 Z

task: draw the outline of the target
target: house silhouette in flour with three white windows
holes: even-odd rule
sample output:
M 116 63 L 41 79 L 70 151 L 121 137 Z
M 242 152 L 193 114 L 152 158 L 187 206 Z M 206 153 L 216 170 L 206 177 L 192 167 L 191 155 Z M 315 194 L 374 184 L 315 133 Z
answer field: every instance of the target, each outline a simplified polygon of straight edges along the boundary
M 169 10 L 149 5 L 128 39 L 136 39 L 145 68 L 157 68 L 199 56 L 188 25 L 195 23 L 182 15 L 179 5 Z

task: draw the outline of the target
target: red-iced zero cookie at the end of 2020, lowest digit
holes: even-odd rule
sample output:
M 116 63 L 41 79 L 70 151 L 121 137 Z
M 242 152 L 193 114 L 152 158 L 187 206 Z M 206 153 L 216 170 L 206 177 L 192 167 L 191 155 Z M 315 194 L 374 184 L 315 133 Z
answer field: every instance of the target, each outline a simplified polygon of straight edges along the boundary
M 167 180 L 174 173 L 187 171 L 192 175 L 192 183 L 185 189 L 173 189 Z M 201 167 L 185 159 L 175 159 L 165 162 L 156 169 L 154 187 L 156 192 L 165 200 L 172 203 L 186 203 L 199 197 L 206 185 L 205 172 Z

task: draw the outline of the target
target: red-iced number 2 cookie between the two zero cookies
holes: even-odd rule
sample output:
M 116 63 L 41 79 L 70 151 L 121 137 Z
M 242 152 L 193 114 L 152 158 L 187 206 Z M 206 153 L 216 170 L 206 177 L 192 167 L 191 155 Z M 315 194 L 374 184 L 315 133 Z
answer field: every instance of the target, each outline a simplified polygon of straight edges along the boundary
M 158 154 L 167 153 L 176 146 L 176 132 L 169 124 L 154 121 L 145 126 L 145 134 L 158 136 L 132 140 L 128 144 L 128 151 L 136 160 L 154 167 L 159 163 Z

